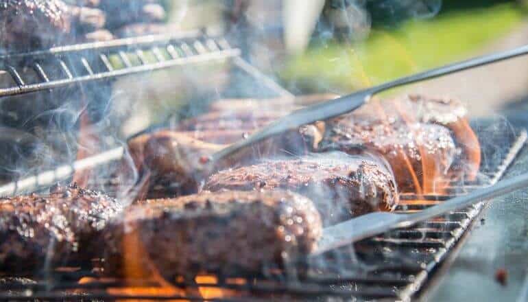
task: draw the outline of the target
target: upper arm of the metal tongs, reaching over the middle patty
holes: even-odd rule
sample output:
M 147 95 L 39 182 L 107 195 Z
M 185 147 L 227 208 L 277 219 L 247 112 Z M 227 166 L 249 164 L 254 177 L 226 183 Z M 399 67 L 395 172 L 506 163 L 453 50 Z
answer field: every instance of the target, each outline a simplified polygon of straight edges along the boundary
M 355 93 L 339 97 L 335 100 L 302 108 L 298 111 L 294 111 L 290 115 L 277 119 L 247 139 L 242 139 L 236 143 L 232 143 L 230 146 L 215 152 L 215 154 L 210 157 L 209 161 L 200 165 L 197 170 L 200 170 L 200 172 L 202 172 L 204 175 L 211 174 L 211 172 L 215 170 L 215 166 L 217 163 L 219 163 L 219 161 L 229 158 L 243 148 L 247 148 L 254 143 L 258 143 L 275 135 L 280 135 L 283 132 L 299 128 L 303 125 L 311 124 L 315 121 L 325 121 L 327 119 L 331 119 L 332 117 L 337 117 L 338 115 L 343 115 L 345 113 L 349 113 L 350 111 L 354 111 L 363 104 L 366 104 L 372 98 L 372 96 L 376 95 L 377 93 L 387 91 L 388 89 L 437 78 L 443 75 L 448 75 L 450 73 L 455 73 L 482 65 L 488 65 L 493 62 L 514 58 L 516 56 L 522 56 L 524 54 L 528 54 L 528 45 L 508 51 L 490 54 L 488 56 L 472 58 L 470 60 L 457 62 L 436 69 L 430 69 L 429 71 L 409 75 L 405 78 L 399 78 L 379 86 L 356 91 Z

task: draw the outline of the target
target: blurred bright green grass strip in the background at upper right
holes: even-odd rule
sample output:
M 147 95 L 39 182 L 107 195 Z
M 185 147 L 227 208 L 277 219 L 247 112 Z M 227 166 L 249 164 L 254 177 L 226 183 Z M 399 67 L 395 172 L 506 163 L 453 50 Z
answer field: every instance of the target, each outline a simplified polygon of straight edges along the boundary
M 313 46 L 289 58 L 279 76 L 299 92 L 345 93 L 466 58 L 522 20 L 523 11 L 515 3 L 457 10 L 448 6 L 431 19 L 406 21 L 392 29 L 374 27 L 361 43 L 332 40 Z

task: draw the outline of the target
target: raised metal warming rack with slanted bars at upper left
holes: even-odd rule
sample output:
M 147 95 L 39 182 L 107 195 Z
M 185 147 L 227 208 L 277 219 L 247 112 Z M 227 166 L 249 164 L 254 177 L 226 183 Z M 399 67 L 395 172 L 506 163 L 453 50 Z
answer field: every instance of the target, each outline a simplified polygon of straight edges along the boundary
M 225 38 L 208 37 L 200 32 L 123 38 L 7 54 L 0 56 L 0 75 L 8 76 L 10 81 L 5 82 L 10 84 L 0 88 L 0 97 L 239 55 L 240 49 L 231 47 Z

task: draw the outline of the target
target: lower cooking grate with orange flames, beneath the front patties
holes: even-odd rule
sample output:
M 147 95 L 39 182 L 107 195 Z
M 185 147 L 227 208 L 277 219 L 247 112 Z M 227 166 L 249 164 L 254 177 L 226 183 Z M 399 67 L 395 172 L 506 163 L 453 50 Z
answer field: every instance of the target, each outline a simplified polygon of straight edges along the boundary
M 522 146 L 526 141 L 525 132 L 521 132 L 511 147 Z M 520 150 L 520 148 L 518 149 Z M 517 152 L 518 152 L 517 150 Z M 86 159 L 82 163 L 77 163 L 77 167 L 71 165 L 64 166 L 62 176 L 71 174 L 73 170 L 97 165 L 106 165 L 109 161 L 120 159 L 123 149 L 120 149 L 97 159 Z M 497 173 L 502 174 L 500 167 L 507 166 L 507 161 L 512 161 L 515 157 L 510 150 L 505 154 L 500 163 L 495 165 Z M 57 173 L 57 172 L 53 172 Z M 53 176 L 47 173 L 47 176 Z M 44 181 L 43 177 L 36 177 Z M 497 177 L 496 179 L 499 179 Z M 31 187 L 39 183 L 36 180 L 26 181 L 25 186 Z M 464 186 L 464 184 L 459 184 Z M 17 188 L 24 187 L 24 183 L 10 187 L 13 192 Z M 455 191 L 455 187 L 453 191 Z M 1 192 L 5 191 L 0 188 Z M 442 202 L 449 196 L 432 196 L 428 198 L 415 198 L 416 196 L 404 196 L 404 202 L 409 205 L 420 205 L 422 200 L 424 207 L 431 206 L 437 202 Z M 406 201 L 407 200 L 407 201 Z M 299 275 L 289 276 L 287 270 L 272 273 L 265 276 L 218 276 L 218 283 L 176 282 L 174 286 L 187 288 L 189 292 L 197 292 L 200 287 L 217 288 L 221 290 L 235 290 L 236 297 L 219 298 L 215 301 L 248 301 L 258 300 L 256 297 L 267 299 L 274 297 L 280 299 L 281 295 L 291 297 L 291 299 L 313 299 L 314 297 L 333 297 L 352 299 L 386 299 L 388 301 L 409 301 L 413 294 L 416 294 L 429 279 L 431 273 L 435 271 L 438 264 L 447 257 L 449 251 L 457 244 L 457 241 L 470 226 L 472 220 L 477 217 L 483 209 L 483 202 L 476 207 L 469 207 L 465 211 L 455 211 L 440 219 L 422 222 L 415 227 L 398 229 L 381 236 L 376 236 L 367 240 L 357 242 L 353 246 L 341 248 L 339 251 L 331 251 L 325 255 L 317 256 L 314 259 L 304 259 L 296 264 Z M 416 211 L 409 209 L 408 211 Z M 357 259 L 346 259 L 342 255 L 350 255 L 354 251 Z M 345 254 L 341 253 L 344 252 Z M 339 256 L 341 255 L 341 257 Z M 320 258 L 322 257 L 322 258 Z M 324 264 L 319 267 L 318 264 Z M 77 272 L 75 277 L 82 275 Z M 86 272 L 87 276 L 93 276 L 91 272 Z M 230 277 L 243 280 L 242 283 L 231 283 L 227 280 Z M 299 278 L 298 278 L 299 277 Z M 73 278 L 75 279 L 75 278 Z M 130 281 L 128 281 L 130 282 Z M 29 286 L 11 286 L 11 290 L 20 289 L 25 294 L 5 294 L 1 290 L 6 287 L 0 286 L 0 299 L 27 300 L 62 300 L 75 299 L 186 299 L 190 301 L 204 301 L 202 297 L 193 294 L 184 296 L 159 296 L 159 295 L 113 295 L 106 292 L 107 288 L 123 288 L 130 286 L 130 283 L 123 281 L 95 281 L 93 283 L 77 284 L 75 282 L 38 282 Z M 139 281 L 141 287 L 153 286 L 148 280 Z M 82 295 L 66 295 L 64 290 L 72 292 L 86 292 Z M 29 292 L 29 294 L 28 294 Z M 276 298 L 279 297 L 279 298 Z

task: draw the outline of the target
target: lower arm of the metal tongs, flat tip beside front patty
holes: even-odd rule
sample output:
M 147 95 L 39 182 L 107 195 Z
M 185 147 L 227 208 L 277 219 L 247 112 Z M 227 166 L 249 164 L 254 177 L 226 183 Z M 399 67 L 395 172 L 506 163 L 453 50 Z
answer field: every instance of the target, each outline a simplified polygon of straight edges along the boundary
M 451 198 L 440 205 L 435 205 L 417 213 L 398 214 L 374 212 L 359 216 L 358 218 L 352 218 L 346 222 L 341 222 L 324 229 L 315 255 L 352 244 L 367 237 L 385 233 L 392 229 L 411 227 L 418 222 L 429 220 L 457 209 L 464 209 L 477 202 L 501 196 L 525 187 L 528 187 L 528 173 L 509 178 L 490 187 L 477 189 L 464 196 Z

